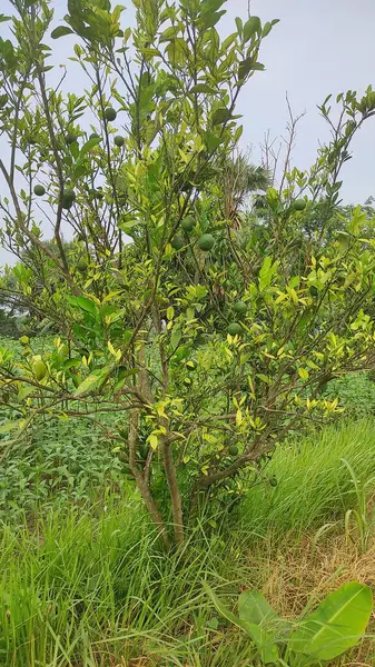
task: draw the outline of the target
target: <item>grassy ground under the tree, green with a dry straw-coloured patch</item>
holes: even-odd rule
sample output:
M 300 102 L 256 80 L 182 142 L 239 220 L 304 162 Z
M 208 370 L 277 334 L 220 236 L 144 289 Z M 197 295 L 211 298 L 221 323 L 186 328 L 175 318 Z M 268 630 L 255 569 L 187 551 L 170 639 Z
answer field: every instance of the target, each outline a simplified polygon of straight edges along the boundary
M 290 618 L 345 580 L 374 586 L 372 536 L 362 552 L 354 525 L 345 531 L 357 497 L 342 462 L 345 457 L 368 480 L 374 434 L 367 420 L 280 448 L 269 468 L 278 486 L 251 489 L 225 532 L 197 528 L 178 555 L 159 550 L 134 498 L 51 509 L 21 531 L 4 526 L 0 665 L 249 667 L 248 643 L 217 625 L 201 581 L 231 606 L 240 589 L 258 587 Z M 373 490 L 369 485 L 368 526 Z M 339 665 L 373 666 L 374 654 L 368 637 Z

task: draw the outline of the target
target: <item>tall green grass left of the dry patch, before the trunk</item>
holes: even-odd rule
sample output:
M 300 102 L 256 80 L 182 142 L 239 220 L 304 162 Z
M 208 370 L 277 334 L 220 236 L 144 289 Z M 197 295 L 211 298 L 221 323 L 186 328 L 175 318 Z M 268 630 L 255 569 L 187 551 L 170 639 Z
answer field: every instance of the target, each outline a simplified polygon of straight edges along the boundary
M 223 665 L 201 581 L 226 581 L 228 559 L 221 537 L 195 537 L 182 551 L 164 554 L 137 505 L 110 507 L 100 518 L 52 512 L 17 535 L 4 529 L 0 664 L 109 666 L 146 654 L 158 667 Z M 230 650 L 240 664 L 249 647 L 235 638 Z

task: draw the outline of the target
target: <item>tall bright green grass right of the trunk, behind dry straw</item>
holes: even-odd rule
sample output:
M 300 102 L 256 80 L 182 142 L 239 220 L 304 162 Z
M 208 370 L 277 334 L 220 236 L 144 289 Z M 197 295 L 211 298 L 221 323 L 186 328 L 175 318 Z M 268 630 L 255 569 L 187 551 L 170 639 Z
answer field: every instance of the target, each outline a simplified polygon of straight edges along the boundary
M 355 488 L 347 467 L 366 481 L 375 472 L 375 421 L 342 422 L 300 440 L 282 445 L 267 475 L 277 487 L 254 487 L 241 506 L 241 530 L 283 535 L 319 527 L 344 517 L 355 502 Z

